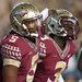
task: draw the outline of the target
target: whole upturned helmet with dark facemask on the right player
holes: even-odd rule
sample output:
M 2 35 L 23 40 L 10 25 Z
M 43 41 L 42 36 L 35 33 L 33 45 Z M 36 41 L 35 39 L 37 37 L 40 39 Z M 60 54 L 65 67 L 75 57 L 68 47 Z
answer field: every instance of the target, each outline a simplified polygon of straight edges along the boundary
M 47 20 L 47 27 L 50 34 L 66 37 L 67 39 L 77 39 L 80 31 L 79 22 L 67 10 L 56 10 Z

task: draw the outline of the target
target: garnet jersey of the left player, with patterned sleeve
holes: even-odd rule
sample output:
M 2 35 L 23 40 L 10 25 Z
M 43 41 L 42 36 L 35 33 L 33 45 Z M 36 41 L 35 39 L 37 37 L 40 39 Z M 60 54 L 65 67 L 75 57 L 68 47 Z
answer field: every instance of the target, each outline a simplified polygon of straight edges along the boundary
M 1 43 L 1 55 L 21 62 L 16 82 L 33 81 L 38 61 L 38 54 L 33 43 L 19 35 L 9 34 Z

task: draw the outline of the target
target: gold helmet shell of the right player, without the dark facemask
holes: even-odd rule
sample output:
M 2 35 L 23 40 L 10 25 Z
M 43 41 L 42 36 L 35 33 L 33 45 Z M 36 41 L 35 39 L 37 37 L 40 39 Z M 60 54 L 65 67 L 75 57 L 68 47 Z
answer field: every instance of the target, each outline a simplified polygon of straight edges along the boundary
M 60 20 L 62 16 L 72 16 L 72 14 L 65 9 L 55 10 L 52 14 L 47 20 L 47 26 L 50 33 L 58 36 L 67 36 L 67 32 L 63 27 L 61 27 Z

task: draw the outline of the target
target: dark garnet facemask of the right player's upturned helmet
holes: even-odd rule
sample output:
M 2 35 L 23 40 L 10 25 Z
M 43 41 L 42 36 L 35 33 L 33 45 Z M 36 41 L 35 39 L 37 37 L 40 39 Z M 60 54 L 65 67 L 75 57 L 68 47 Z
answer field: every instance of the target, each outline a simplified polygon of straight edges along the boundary
M 78 20 L 73 16 L 62 16 L 60 22 L 67 31 L 67 39 L 77 39 L 80 31 Z

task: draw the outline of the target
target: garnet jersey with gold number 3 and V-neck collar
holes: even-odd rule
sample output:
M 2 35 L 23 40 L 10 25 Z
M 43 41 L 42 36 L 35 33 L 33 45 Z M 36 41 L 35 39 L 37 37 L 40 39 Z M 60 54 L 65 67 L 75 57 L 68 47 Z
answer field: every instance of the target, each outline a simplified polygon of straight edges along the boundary
M 75 45 L 68 40 L 63 50 L 48 36 L 40 38 L 40 61 L 33 82 L 58 82 L 60 73 L 68 67 L 69 58 L 75 52 Z

